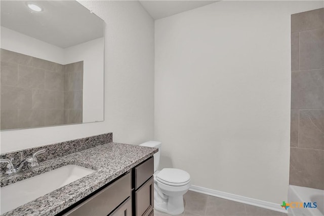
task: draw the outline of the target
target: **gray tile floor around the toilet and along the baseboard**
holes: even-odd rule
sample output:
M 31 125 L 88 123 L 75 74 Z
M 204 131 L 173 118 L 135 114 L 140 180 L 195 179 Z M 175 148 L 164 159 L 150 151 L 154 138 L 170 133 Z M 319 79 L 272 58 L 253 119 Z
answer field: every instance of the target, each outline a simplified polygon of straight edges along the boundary
M 182 216 L 287 216 L 285 213 L 188 191 Z M 154 210 L 154 216 L 169 214 Z

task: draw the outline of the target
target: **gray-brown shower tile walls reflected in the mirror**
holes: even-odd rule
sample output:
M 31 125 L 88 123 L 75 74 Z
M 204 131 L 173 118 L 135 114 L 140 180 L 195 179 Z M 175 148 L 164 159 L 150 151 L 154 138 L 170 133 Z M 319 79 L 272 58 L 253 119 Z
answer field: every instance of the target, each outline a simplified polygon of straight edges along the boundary
M 83 61 L 71 64 L 1 49 L 1 129 L 82 123 Z

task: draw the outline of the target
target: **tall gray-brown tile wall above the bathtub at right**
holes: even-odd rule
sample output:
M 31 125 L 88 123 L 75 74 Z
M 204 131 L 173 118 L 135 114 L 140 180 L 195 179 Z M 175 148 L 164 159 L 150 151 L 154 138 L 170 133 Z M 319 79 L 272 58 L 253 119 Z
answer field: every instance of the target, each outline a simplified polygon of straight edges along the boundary
M 324 189 L 324 8 L 291 24 L 290 184 Z

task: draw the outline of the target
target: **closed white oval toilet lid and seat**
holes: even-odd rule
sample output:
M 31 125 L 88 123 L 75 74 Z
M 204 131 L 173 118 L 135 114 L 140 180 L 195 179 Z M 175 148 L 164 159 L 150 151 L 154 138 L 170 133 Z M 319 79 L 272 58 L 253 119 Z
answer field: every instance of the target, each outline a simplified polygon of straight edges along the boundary
M 190 182 L 190 175 L 181 169 L 164 168 L 156 175 L 156 179 L 166 185 L 182 186 Z

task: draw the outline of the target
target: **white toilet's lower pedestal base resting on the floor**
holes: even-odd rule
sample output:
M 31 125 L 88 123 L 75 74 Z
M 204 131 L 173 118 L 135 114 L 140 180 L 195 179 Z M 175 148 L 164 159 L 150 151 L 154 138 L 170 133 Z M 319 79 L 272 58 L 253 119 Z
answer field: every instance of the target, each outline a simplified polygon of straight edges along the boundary
M 184 211 L 183 196 L 168 197 L 167 200 L 159 201 L 154 199 L 154 209 L 171 215 L 181 214 Z

